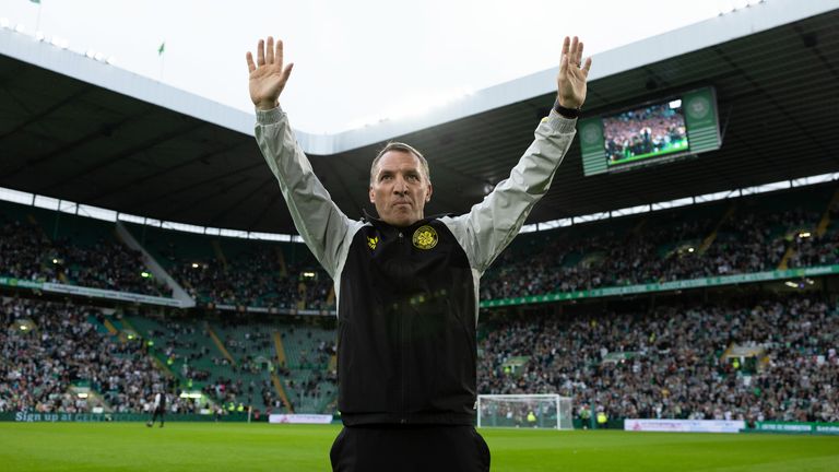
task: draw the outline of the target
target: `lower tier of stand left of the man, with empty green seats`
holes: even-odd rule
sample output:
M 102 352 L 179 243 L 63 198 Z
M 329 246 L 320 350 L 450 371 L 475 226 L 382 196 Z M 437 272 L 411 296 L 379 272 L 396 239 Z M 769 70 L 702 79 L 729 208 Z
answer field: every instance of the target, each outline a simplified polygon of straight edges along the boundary
M 159 315 L 19 297 L 3 298 L 0 411 L 147 412 L 153 392 L 174 394 L 173 413 L 201 408 L 237 412 L 321 412 L 334 401 L 334 333 L 289 323 L 208 323 Z M 107 315 L 106 315 L 107 312 Z M 25 327 L 25 328 L 21 328 Z M 212 334 L 211 334 L 212 333 Z M 273 333 L 289 341 L 280 365 Z M 223 340 L 224 350 L 213 337 Z M 331 371 L 328 368 L 331 367 Z M 271 376 L 288 389 L 277 392 Z M 88 393 L 78 397 L 78 389 Z M 208 402 L 180 398 L 203 391 Z M 288 403 L 286 403 L 288 402 Z

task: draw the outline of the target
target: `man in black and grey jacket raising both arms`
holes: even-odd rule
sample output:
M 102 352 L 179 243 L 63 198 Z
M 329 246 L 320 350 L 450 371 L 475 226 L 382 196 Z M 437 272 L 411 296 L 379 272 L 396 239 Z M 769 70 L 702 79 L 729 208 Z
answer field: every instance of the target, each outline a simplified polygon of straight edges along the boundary
M 478 281 L 544 196 L 575 135 L 591 59 L 565 38 L 557 99 L 535 140 L 486 198 L 460 216 L 426 216 L 428 162 L 404 143 L 375 156 L 378 217 L 347 217 L 315 176 L 280 107 L 293 64 L 283 44 L 247 54 L 256 137 L 295 226 L 332 276 L 338 305 L 335 471 L 486 471 L 474 428 Z M 451 156 L 457 158 L 457 156 Z

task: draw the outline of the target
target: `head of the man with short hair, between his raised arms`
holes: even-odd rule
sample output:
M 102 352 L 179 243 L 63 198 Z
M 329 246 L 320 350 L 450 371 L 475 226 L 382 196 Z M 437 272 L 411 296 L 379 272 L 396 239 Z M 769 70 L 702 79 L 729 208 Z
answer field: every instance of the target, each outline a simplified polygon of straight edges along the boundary
M 388 151 L 376 166 L 370 184 L 370 203 L 379 217 L 393 226 L 410 226 L 423 219 L 425 203 L 432 199 L 428 181 L 415 155 Z

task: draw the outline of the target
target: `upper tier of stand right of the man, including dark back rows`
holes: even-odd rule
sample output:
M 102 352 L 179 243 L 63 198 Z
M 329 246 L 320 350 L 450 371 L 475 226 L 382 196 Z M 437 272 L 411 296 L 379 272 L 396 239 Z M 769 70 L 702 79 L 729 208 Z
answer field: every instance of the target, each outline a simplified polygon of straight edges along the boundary
M 834 193 L 823 186 L 522 235 L 488 271 L 482 295 L 829 266 L 838 248 Z

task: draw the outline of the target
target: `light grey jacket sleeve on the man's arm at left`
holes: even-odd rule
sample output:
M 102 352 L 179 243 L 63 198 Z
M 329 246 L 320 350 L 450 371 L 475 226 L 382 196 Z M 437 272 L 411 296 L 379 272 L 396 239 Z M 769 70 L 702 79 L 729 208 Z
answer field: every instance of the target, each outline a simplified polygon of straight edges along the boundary
M 332 202 L 318 180 L 282 109 L 257 110 L 256 137 L 268 166 L 280 182 L 297 232 L 334 279 L 351 220 Z

